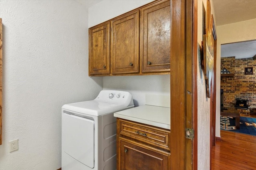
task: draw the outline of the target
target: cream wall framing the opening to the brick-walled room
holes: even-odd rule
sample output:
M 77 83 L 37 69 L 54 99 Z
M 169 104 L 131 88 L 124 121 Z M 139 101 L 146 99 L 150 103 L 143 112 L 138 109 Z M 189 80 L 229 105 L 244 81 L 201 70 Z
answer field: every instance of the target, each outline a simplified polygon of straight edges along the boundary
M 256 19 L 227 25 L 217 29 L 217 80 L 216 80 L 216 137 L 220 137 L 220 46 L 226 43 L 256 39 Z

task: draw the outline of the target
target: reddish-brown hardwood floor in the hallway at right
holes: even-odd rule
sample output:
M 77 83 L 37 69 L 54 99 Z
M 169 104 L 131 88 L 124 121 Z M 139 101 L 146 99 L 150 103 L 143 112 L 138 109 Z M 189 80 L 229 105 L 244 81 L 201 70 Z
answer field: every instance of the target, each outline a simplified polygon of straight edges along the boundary
M 212 147 L 212 170 L 256 170 L 256 136 L 220 131 Z

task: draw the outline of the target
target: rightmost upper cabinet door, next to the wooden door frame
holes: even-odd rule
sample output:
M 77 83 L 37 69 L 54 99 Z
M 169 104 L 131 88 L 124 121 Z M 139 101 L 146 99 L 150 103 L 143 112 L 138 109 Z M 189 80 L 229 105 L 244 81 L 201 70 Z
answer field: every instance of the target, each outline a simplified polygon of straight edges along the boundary
M 170 0 L 141 9 L 142 73 L 170 71 Z

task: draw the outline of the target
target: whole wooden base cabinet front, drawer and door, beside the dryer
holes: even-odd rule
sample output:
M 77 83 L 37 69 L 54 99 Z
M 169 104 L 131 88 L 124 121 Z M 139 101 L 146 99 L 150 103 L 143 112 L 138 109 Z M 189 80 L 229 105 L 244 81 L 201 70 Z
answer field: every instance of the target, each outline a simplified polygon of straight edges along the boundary
M 170 170 L 170 130 L 116 121 L 118 170 Z

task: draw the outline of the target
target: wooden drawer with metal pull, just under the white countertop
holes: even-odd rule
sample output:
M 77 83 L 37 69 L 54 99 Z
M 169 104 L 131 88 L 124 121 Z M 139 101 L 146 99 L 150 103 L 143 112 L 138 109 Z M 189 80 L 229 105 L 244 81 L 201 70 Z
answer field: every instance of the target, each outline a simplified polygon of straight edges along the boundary
M 119 127 L 117 133 L 119 136 L 129 137 L 141 141 L 156 148 L 170 151 L 169 135 L 170 130 L 154 126 L 117 119 Z

